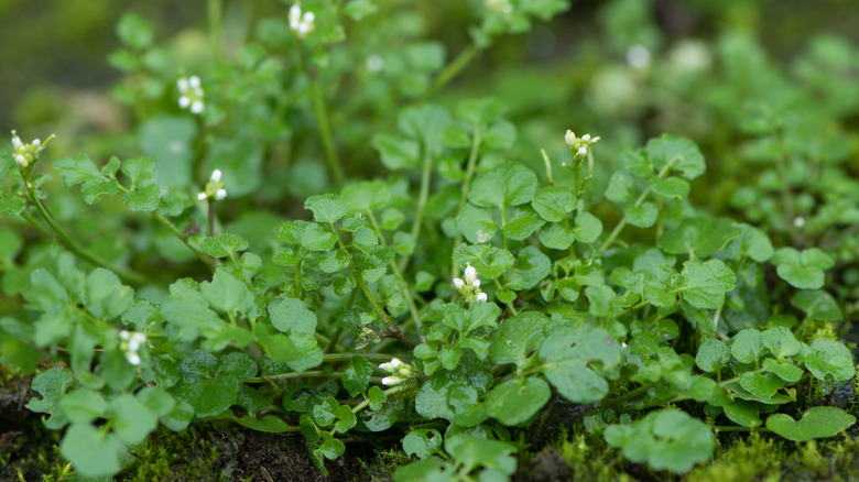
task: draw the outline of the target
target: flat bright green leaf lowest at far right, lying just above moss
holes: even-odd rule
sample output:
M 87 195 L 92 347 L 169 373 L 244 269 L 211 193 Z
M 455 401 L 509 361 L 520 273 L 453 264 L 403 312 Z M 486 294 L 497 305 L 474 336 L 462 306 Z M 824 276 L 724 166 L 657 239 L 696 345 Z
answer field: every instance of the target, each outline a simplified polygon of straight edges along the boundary
M 856 417 L 835 407 L 808 408 L 800 420 L 794 420 L 785 414 L 773 414 L 766 418 L 766 428 L 797 442 L 835 437 L 853 424 Z

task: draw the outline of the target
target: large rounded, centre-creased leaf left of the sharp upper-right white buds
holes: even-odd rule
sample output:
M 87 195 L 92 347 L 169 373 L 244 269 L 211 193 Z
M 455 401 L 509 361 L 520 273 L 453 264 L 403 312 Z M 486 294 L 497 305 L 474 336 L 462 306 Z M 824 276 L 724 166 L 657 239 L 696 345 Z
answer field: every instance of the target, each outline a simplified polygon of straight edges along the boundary
M 483 208 L 519 206 L 534 198 L 536 174 L 524 165 L 509 162 L 480 173 L 471 185 L 468 200 Z

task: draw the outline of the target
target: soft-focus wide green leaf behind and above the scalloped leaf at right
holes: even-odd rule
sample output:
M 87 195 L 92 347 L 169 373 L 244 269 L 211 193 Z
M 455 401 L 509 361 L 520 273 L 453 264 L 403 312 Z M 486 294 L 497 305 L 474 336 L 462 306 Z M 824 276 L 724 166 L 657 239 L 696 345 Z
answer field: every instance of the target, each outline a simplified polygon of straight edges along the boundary
M 732 220 L 726 218 L 684 219 L 676 229 L 666 230 L 660 237 L 659 247 L 668 254 L 705 258 L 721 251 L 741 232 Z

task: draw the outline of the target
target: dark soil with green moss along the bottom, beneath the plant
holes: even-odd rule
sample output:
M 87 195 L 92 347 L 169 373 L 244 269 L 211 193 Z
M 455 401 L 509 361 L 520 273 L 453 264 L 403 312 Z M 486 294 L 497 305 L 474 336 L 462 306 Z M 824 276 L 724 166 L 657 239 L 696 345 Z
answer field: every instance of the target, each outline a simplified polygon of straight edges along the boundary
M 42 427 L 24 404 L 29 379 L 0 370 L 0 481 L 75 481 L 58 451 L 59 434 Z M 856 404 L 849 407 L 859 414 Z M 576 418 L 578 414 L 572 412 Z M 557 420 L 562 421 L 562 420 Z M 559 427 L 559 428 L 557 428 Z M 685 475 L 655 472 L 630 463 L 600 437 L 584 435 L 581 424 L 555 427 L 522 454 L 514 482 L 553 481 L 850 481 L 859 473 L 859 428 L 804 443 L 771 434 L 722 434 L 708 463 Z M 301 435 L 273 435 L 227 423 L 205 423 L 182 432 L 160 429 L 135 448 L 120 481 L 390 481 L 409 458 L 395 440 L 354 439 L 346 457 L 328 461 L 328 478 L 311 458 Z

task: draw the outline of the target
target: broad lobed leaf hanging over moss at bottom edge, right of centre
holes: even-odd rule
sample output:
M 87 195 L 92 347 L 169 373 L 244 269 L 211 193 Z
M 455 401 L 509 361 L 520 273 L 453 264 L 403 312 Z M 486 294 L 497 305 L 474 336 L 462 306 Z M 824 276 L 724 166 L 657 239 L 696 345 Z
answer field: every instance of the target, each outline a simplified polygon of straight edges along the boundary
M 632 425 L 611 425 L 605 438 L 630 461 L 674 473 L 709 460 L 716 446 L 706 424 L 675 409 L 652 412 Z

